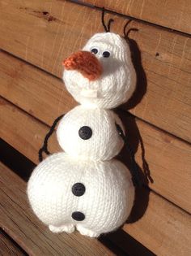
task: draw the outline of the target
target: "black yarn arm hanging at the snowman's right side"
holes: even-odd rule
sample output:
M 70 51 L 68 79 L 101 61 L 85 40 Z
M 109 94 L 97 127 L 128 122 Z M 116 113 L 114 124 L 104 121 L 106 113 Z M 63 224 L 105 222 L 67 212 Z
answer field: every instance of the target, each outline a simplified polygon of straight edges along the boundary
M 119 124 L 116 124 L 116 128 L 117 128 L 117 132 L 119 132 L 119 135 L 121 136 L 121 138 L 123 139 L 123 141 L 125 143 L 125 148 L 129 151 L 129 154 L 130 154 L 130 158 L 131 158 L 131 162 L 132 162 L 131 174 L 132 174 L 132 180 L 133 180 L 134 186 L 141 186 L 142 182 L 141 182 L 139 172 L 138 172 L 138 164 L 136 163 L 135 158 L 134 158 L 134 151 L 130 147 L 130 145 L 127 141 L 127 137 L 125 137 L 125 134 Z

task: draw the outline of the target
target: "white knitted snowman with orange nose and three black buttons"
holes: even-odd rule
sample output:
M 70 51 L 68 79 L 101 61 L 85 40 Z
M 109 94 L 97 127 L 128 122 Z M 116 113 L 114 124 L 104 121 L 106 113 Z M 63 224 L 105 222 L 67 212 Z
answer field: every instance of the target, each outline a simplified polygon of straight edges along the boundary
M 79 106 L 60 121 L 65 152 L 46 158 L 28 182 L 29 202 L 52 232 L 96 237 L 117 229 L 134 204 L 129 170 L 114 159 L 124 145 L 121 120 L 110 109 L 126 102 L 136 75 L 125 39 L 97 33 L 63 62 L 63 80 Z

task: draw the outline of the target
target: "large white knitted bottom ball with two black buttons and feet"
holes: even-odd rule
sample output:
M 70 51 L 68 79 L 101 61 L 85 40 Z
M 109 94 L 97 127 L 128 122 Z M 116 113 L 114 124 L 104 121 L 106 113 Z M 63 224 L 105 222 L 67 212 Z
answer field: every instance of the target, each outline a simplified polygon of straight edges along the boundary
M 79 161 L 66 153 L 40 163 L 28 181 L 28 198 L 52 232 L 97 237 L 120 227 L 134 204 L 134 185 L 124 164 Z

